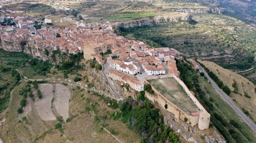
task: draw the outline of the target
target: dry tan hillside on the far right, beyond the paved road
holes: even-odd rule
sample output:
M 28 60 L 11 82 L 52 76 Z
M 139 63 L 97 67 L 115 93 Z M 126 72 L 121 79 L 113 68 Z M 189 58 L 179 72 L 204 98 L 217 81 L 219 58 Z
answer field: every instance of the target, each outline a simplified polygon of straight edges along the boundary
M 223 81 L 224 85 L 227 85 L 231 91 L 234 90 L 232 87 L 232 84 L 234 83 L 233 80 L 236 81 L 239 94 L 232 92 L 230 94 L 230 98 L 234 99 L 240 108 L 248 110 L 250 112 L 250 116 L 254 121 L 256 121 L 256 94 L 254 92 L 255 85 L 237 73 L 231 72 L 230 76 L 230 70 L 224 69 L 218 66 L 218 64 L 201 60 L 199 62 L 215 73 L 216 76 L 218 76 L 218 78 Z M 244 96 L 245 93 L 247 93 L 251 98 L 246 98 Z

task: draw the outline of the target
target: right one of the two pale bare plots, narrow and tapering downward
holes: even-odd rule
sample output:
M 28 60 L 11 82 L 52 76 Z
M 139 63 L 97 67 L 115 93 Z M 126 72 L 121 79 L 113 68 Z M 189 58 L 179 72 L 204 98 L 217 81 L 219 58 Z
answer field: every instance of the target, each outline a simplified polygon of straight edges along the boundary
M 58 114 L 62 116 L 64 121 L 68 118 L 68 109 L 69 109 L 69 99 L 70 99 L 70 89 L 62 84 L 56 84 L 56 91 L 55 91 L 55 109 L 57 110 Z

